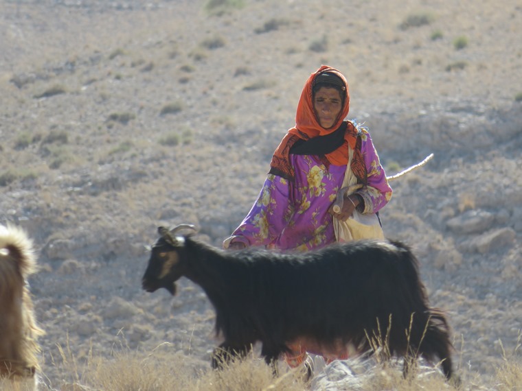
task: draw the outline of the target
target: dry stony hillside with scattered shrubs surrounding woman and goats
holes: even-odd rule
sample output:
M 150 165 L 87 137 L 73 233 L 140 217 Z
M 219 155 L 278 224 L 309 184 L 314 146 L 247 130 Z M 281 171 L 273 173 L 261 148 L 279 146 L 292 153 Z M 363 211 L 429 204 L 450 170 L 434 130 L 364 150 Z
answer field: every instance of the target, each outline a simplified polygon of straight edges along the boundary
M 254 358 L 209 371 L 201 289 L 139 280 L 158 225 L 216 246 L 237 226 L 323 63 L 347 75 L 387 174 L 435 154 L 382 217 L 449 313 L 463 388 L 522 388 L 516 1 L 3 0 L 0 19 L 0 222 L 38 245 L 44 390 L 304 387 Z M 449 388 L 427 368 L 350 368 L 354 390 Z

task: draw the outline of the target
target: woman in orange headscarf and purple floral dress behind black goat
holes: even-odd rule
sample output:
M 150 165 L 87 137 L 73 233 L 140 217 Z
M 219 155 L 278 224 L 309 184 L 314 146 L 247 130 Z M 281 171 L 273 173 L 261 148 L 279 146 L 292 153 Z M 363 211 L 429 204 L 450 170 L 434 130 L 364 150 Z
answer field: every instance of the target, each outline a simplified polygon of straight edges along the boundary
M 349 108 L 342 73 L 323 65 L 310 75 L 297 105 L 295 128 L 275 150 L 258 200 L 224 248 L 320 248 L 347 240 L 336 224 L 347 222 L 355 209 L 374 215 L 389 202 L 391 187 L 370 134 L 354 121 L 344 121 Z M 360 188 L 345 193 L 342 208 L 334 211 L 348 176 Z

